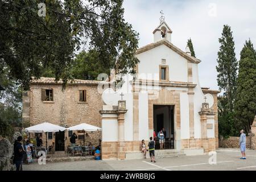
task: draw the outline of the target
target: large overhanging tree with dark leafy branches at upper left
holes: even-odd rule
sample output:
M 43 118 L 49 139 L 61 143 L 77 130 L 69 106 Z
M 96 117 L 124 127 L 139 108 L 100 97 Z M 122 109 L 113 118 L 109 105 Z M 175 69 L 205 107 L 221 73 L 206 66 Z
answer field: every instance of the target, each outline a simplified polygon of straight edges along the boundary
M 38 3 L 46 16 L 38 15 Z M 138 34 L 123 18 L 122 0 L 1 0 L 0 70 L 28 89 L 32 76 L 71 77 L 74 52 L 96 49 L 105 68 L 134 73 Z M 46 75 L 47 75 L 46 74 Z

